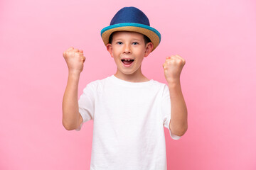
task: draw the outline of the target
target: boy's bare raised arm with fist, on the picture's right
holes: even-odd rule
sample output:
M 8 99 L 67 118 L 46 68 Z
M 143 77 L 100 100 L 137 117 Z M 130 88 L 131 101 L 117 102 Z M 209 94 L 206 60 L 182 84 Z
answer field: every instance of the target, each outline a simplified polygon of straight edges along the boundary
M 184 101 L 180 75 L 185 60 L 178 55 L 166 57 L 164 63 L 164 75 L 169 86 L 171 99 L 171 122 L 169 128 L 174 135 L 182 136 L 188 129 L 187 108 Z

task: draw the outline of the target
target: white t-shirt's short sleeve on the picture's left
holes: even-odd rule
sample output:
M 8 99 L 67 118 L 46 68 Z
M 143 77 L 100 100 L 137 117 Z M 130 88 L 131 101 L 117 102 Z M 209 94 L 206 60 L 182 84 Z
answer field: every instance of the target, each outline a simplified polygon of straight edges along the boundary
M 95 91 L 93 89 L 95 89 L 95 87 L 92 83 L 87 84 L 85 89 L 82 90 L 82 95 L 78 100 L 79 113 L 83 121 L 80 126 L 75 129 L 77 131 L 81 130 L 83 123 L 93 120 L 95 108 Z

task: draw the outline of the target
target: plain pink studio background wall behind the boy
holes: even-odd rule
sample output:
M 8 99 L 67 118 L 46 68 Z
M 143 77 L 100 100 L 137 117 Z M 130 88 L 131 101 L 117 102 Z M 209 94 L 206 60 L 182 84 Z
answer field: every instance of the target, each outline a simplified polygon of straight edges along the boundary
M 188 131 L 166 132 L 168 169 L 256 169 L 255 1 L 0 1 L 0 169 L 89 169 L 92 125 L 68 131 L 63 51 L 84 50 L 78 95 L 116 67 L 100 38 L 119 8 L 136 6 L 162 35 L 143 72 L 181 55 Z

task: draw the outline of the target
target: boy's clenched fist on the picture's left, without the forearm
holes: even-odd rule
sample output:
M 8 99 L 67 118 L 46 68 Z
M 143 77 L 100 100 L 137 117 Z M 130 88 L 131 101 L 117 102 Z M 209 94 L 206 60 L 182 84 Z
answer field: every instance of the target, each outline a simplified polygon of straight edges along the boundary
M 68 48 L 63 52 L 65 62 L 68 64 L 68 71 L 80 74 L 83 69 L 83 63 L 85 57 L 83 56 L 82 50 L 74 49 L 73 47 Z

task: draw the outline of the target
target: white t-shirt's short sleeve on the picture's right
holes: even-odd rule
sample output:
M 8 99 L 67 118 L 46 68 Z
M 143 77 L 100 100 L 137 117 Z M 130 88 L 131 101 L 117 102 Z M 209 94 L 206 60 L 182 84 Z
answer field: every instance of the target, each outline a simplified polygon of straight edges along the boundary
M 164 127 L 169 129 L 169 133 L 172 139 L 178 140 L 181 137 L 174 135 L 171 132 L 171 129 L 169 127 L 170 122 L 171 122 L 171 99 L 170 99 L 170 94 L 169 94 L 169 88 L 166 84 L 164 84 L 164 91 L 163 91 L 163 96 L 162 96 L 162 101 L 161 101 L 161 113 L 163 117 L 163 122 L 164 122 Z

